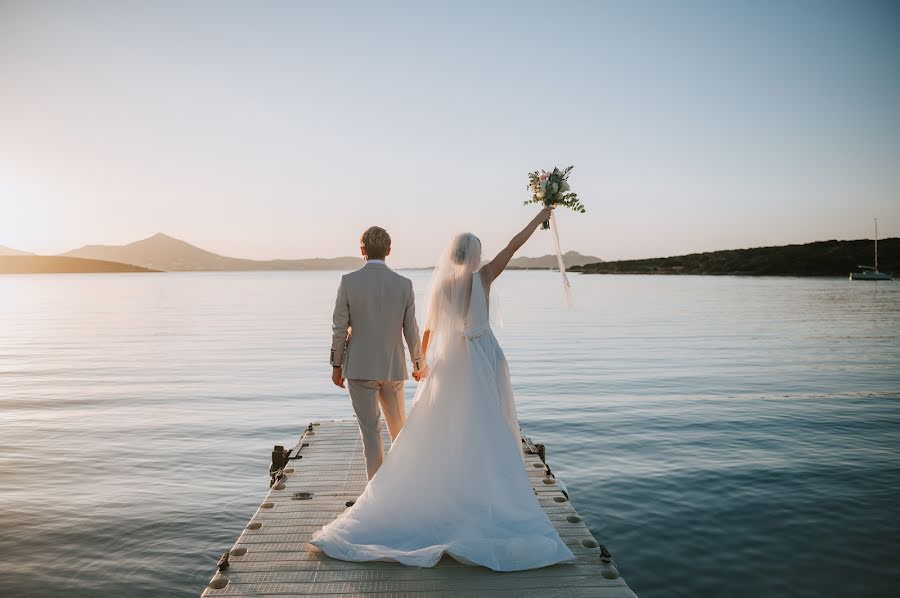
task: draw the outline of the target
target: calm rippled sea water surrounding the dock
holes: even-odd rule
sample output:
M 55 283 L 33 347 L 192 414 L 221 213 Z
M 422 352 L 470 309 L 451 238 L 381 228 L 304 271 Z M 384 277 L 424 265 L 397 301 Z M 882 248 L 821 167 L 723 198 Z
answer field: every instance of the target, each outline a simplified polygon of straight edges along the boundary
M 272 445 L 352 415 L 338 277 L 0 276 L 0 595 L 199 594 Z M 640 596 L 898 595 L 900 283 L 572 282 L 504 275 L 497 335 Z

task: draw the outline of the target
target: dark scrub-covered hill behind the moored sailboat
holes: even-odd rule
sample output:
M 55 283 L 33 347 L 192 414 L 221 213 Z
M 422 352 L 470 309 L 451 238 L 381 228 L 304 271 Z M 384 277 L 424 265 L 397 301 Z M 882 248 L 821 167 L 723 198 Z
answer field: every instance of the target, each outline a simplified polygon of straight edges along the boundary
M 874 241 L 818 241 L 805 245 L 756 247 L 675 257 L 587 264 L 588 274 L 736 274 L 750 276 L 848 276 L 874 265 Z M 900 238 L 878 241 L 878 269 L 900 274 Z

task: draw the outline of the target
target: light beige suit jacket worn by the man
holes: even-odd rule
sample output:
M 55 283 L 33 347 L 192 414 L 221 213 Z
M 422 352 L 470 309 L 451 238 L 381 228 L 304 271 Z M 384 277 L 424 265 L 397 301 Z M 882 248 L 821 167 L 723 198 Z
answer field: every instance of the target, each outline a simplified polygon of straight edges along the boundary
M 414 369 L 422 368 L 412 281 L 385 264 L 341 277 L 331 330 L 331 365 L 343 366 L 344 378 L 405 380 L 403 337 Z

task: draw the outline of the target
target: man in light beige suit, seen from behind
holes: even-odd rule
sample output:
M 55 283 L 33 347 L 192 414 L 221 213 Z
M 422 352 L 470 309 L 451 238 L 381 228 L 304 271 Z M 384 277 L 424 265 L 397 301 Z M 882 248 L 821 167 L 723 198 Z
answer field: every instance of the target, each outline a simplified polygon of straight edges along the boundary
M 366 264 L 341 278 L 334 302 L 331 380 L 344 388 L 347 379 L 371 480 L 384 459 L 381 411 L 392 441 L 406 422 L 402 337 L 409 347 L 413 378 L 420 380 L 426 371 L 412 281 L 384 263 L 391 253 L 390 235 L 373 226 L 362 234 L 359 244 Z

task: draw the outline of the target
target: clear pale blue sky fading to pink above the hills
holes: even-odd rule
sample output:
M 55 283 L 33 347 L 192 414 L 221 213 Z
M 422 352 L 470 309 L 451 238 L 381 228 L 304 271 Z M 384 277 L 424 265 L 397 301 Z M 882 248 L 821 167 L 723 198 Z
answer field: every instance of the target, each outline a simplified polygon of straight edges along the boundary
M 0 0 L 2 245 L 425 265 L 570 163 L 604 259 L 898 236 L 900 3 Z

